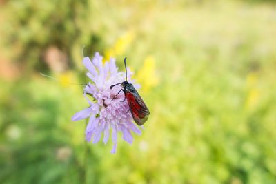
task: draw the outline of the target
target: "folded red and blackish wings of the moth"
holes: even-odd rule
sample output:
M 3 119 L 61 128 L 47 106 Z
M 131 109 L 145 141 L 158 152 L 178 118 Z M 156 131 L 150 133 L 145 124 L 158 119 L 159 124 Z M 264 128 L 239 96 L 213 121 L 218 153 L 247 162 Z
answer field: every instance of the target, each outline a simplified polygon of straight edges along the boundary
M 146 107 L 146 104 L 141 99 L 139 94 L 132 94 L 130 92 L 126 92 L 126 99 L 128 100 L 128 105 L 130 107 L 130 111 L 133 119 L 138 125 L 143 125 L 148 119 L 148 115 L 150 112 Z

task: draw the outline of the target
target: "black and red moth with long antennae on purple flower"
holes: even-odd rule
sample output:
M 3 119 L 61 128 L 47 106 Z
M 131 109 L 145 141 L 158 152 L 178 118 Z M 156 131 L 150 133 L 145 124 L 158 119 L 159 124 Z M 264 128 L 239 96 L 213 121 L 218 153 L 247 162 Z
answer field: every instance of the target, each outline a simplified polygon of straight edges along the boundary
M 126 70 L 126 57 L 124 59 L 124 64 L 125 64 L 125 70 Z M 117 83 L 115 85 L 121 84 L 121 90 L 113 97 L 113 99 L 121 92 L 123 91 L 125 94 L 125 100 L 128 101 L 128 106 L 130 108 L 130 112 L 132 114 L 132 117 L 137 123 L 137 125 L 141 126 L 143 125 L 147 120 L 148 116 L 150 115 L 150 111 L 148 110 L 146 104 L 144 103 L 143 99 L 135 90 L 134 86 L 132 83 L 128 83 L 128 72 L 126 70 L 126 81 Z M 110 89 L 112 89 L 115 85 L 111 85 Z

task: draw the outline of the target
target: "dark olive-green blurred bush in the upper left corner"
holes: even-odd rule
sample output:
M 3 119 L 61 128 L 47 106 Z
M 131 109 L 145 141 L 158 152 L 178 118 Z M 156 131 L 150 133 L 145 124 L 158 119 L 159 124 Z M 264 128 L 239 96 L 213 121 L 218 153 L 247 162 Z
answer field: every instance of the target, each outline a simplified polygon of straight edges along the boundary
M 99 40 L 93 32 L 83 32 L 89 7 L 86 0 L 8 1 L 4 9 L 8 23 L 2 30 L 6 34 L 3 37 L 6 47 L 13 51 L 12 58 L 23 63 L 26 70 L 43 70 L 47 50 L 55 46 L 66 54 L 68 65 L 72 65 L 75 46 L 86 45 L 91 49 L 91 44 L 96 45 Z

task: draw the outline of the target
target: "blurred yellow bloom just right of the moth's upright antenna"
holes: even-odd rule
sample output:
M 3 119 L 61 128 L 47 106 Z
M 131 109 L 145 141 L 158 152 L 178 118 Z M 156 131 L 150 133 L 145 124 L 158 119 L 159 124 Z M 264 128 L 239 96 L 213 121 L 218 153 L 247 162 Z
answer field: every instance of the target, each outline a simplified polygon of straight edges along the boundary
M 137 81 L 141 83 L 142 90 L 148 92 L 150 88 L 158 85 L 159 78 L 155 73 L 155 58 L 152 56 L 146 57 L 142 68 L 137 72 Z

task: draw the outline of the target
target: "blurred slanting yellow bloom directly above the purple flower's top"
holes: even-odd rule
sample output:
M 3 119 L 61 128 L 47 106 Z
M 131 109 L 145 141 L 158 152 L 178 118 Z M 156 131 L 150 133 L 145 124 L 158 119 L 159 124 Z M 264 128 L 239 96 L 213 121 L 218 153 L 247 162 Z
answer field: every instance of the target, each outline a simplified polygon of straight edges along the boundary
M 128 48 L 128 45 L 132 42 L 134 35 L 132 31 L 128 31 L 120 37 L 112 48 L 108 48 L 104 52 L 103 62 L 109 61 L 110 57 L 117 57 L 124 54 L 126 48 Z

